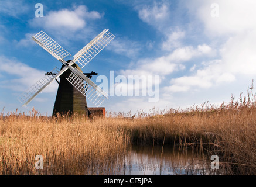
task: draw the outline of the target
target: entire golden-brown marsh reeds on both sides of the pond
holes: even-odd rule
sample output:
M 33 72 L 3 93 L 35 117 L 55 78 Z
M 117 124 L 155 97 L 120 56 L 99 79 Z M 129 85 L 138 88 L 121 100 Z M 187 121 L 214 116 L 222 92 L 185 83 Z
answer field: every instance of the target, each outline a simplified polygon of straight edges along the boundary
M 256 174 L 256 99 L 240 94 L 238 101 L 214 106 L 208 102 L 162 112 L 108 112 L 106 118 L 43 117 L 29 113 L 0 114 L 0 174 L 120 174 L 132 144 L 172 145 L 178 153 L 192 150 L 218 155 L 225 175 Z M 161 153 L 162 154 L 162 153 Z M 35 169 L 35 156 L 43 169 Z M 209 165 L 210 167 L 210 165 Z

